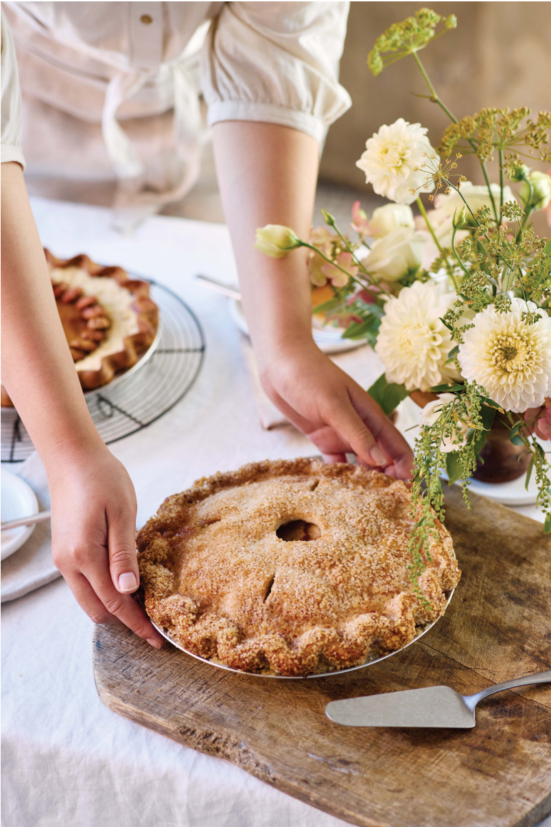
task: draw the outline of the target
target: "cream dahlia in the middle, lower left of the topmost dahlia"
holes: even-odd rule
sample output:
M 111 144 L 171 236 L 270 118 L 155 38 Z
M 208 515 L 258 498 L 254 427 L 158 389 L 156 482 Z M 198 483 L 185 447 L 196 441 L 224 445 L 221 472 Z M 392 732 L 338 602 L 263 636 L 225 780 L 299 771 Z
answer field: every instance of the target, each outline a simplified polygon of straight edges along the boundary
M 454 301 L 455 294 L 430 281 L 414 281 L 388 299 L 375 350 L 389 382 L 407 390 L 427 390 L 459 378 L 453 365 L 444 367 L 452 343 L 448 327 L 440 321 Z

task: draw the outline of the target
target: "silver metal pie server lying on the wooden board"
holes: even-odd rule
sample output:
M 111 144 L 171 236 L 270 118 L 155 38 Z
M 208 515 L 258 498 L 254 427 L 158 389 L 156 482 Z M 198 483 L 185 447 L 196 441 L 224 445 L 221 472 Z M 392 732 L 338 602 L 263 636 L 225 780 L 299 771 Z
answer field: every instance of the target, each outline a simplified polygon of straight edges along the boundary
M 449 686 L 427 686 L 404 692 L 385 692 L 362 698 L 332 700 L 325 714 L 335 724 L 344 726 L 423 726 L 472 729 L 476 724 L 475 706 L 494 692 L 551 683 L 551 671 L 518 677 L 496 686 L 488 686 L 475 695 L 459 695 Z

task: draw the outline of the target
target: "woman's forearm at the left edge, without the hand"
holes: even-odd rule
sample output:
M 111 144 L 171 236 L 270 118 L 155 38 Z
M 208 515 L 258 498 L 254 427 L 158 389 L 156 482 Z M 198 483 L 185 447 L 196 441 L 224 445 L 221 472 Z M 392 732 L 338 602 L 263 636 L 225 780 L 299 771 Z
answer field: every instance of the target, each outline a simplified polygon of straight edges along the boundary
M 22 168 L 2 164 L 2 383 L 48 466 L 103 446 L 55 307 Z

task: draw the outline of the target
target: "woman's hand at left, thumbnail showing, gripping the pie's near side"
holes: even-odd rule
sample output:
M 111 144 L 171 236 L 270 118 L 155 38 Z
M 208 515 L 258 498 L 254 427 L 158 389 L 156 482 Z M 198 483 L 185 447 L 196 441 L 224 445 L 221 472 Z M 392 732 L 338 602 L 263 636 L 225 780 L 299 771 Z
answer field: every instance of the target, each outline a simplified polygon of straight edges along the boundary
M 163 638 L 135 600 L 136 494 L 107 448 L 63 457 L 47 469 L 52 553 L 79 605 L 94 623 L 123 623 L 161 648 Z

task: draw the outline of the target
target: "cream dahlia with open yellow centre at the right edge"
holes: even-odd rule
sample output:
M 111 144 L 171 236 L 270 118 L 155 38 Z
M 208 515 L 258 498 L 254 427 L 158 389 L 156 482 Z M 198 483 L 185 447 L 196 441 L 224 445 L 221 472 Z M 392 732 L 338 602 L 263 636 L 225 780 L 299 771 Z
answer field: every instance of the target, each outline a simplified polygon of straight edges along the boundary
M 522 314 L 537 310 L 534 302 L 511 299 L 508 313 L 493 304 L 477 313 L 474 327 L 463 334 L 459 364 L 467 380 L 475 380 L 505 410 L 522 414 L 544 404 L 551 394 L 551 318 L 535 324 Z

